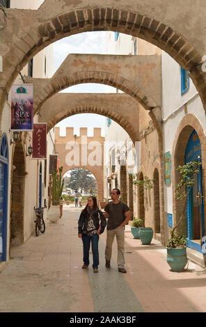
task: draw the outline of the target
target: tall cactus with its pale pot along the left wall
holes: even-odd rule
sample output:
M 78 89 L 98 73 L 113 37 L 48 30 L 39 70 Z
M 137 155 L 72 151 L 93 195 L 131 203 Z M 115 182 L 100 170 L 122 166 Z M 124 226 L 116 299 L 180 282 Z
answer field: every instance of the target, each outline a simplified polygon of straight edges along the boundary
M 52 172 L 52 206 L 49 209 L 48 220 L 51 223 L 57 223 L 61 218 L 63 203 L 61 202 L 61 194 L 63 191 L 64 181 L 61 181 L 63 167 L 58 168 L 58 171 Z

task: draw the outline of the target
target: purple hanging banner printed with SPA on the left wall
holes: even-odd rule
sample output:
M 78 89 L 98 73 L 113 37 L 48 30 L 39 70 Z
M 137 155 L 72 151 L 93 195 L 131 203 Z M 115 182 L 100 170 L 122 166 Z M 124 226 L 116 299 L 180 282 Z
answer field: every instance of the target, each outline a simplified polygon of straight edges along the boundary
M 10 129 L 33 131 L 33 84 L 13 84 Z

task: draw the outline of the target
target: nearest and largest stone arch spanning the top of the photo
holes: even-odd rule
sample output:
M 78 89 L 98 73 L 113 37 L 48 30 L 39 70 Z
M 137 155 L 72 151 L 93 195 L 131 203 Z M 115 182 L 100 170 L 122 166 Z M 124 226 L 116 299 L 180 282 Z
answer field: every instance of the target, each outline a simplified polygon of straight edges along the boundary
M 181 10 L 182 9 L 182 10 Z M 182 6 L 170 0 L 100 0 L 72 1 L 45 0 L 38 10 L 8 12 L 15 19 L 1 31 L 0 106 L 18 72 L 41 49 L 65 36 L 84 31 L 119 31 L 143 38 L 170 54 L 177 63 L 191 71 L 196 88 L 206 107 L 206 77 L 201 59 L 206 53 L 205 9 L 192 0 Z M 182 24 L 182 12 L 184 22 Z M 203 31 L 203 33 L 200 33 Z M 198 38 L 196 37 L 198 35 Z

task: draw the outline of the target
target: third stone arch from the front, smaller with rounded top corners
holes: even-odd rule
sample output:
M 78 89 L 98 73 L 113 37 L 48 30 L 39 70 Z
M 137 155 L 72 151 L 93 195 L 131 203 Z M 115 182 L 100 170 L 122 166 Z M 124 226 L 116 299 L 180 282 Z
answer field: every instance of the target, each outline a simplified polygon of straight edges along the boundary
M 138 141 L 138 103 L 127 94 L 58 93 L 42 106 L 39 122 L 47 122 L 49 131 L 64 118 L 77 113 L 109 117 L 127 131 L 133 142 Z

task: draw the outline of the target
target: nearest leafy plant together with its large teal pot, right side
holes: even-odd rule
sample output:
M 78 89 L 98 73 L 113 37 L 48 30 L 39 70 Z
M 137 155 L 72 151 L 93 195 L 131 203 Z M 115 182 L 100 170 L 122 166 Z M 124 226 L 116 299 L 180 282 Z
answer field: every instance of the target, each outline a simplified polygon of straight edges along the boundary
M 184 205 L 180 218 L 174 228 L 171 230 L 171 237 L 167 243 L 167 262 L 171 266 L 171 271 L 184 271 L 187 264 L 187 238 L 185 235 L 177 233 L 177 227 L 182 222 L 187 210 L 187 195 L 195 182 L 195 175 L 200 171 L 200 162 L 189 161 L 183 166 L 178 166 L 181 180 L 176 186 L 175 198 L 184 200 Z M 184 189 L 184 191 L 182 191 Z

